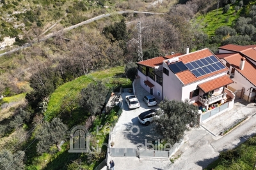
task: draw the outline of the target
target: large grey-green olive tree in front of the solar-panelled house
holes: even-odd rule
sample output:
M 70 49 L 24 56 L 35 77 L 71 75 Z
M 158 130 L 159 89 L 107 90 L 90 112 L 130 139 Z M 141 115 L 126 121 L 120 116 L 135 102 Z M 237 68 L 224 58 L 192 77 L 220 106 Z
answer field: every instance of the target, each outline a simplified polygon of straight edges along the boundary
M 190 127 L 197 127 L 198 108 L 189 101 L 169 101 L 164 99 L 159 103 L 163 112 L 158 113 L 159 117 L 154 118 L 156 131 L 163 136 L 171 145 L 184 137 L 184 132 Z

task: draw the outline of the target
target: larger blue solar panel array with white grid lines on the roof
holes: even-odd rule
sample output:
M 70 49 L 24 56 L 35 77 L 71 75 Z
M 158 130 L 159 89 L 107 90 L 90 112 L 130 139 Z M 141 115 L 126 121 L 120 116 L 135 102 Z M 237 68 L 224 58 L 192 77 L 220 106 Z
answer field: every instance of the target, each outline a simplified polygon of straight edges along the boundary
M 196 76 L 204 76 L 205 74 L 224 69 L 225 66 L 213 55 L 204 59 L 195 60 L 185 64 L 189 70 Z

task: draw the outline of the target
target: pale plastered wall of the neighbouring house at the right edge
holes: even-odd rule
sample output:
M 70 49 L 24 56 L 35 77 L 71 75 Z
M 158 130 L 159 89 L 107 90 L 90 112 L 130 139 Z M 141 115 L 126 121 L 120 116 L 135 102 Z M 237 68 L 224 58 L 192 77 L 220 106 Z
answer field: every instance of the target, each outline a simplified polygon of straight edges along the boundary
M 226 61 L 223 59 L 221 59 L 221 62 L 223 62 L 223 64 L 226 64 Z M 230 73 L 231 73 L 231 69 L 232 69 L 232 66 L 230 66 L 230 71 L 229 71 Z M 239 90 L 236 92 L 236 96 L 241 96 L 241 89 L 244 87 L 245 90 L 244 90 L 243 99 L 247 101 L 248 96 L 250 94 L 250 87 L 254 87 L 254 85 L 250 83 L 250 81 L 244 78 L 244 76 L 242 76 L 241 73 L 239 73 L 236 70 L 235 70 L 234 78 L 232 78 L 232 80 L 234 81 L 234 83 L 228 85 L 228 89 L 232 90 L 232 92 Z M 251 99 L 254 99 L 254 97 L 255 97 L 255 93 L 251 93 L 249 97 L 249 101 Z

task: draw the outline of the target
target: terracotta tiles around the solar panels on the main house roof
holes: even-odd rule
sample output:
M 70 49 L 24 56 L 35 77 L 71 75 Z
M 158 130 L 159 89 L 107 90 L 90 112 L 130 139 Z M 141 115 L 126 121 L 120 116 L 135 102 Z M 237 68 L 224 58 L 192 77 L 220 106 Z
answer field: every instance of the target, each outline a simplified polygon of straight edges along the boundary
M 179 57 L 179 60 L 182 60 L 182 62 L 184 62 L 184 64 L 186 64 L 193 60 L 203 59 L 203 58 L 209 57 L 211 55 L 214 56 L 214 54 L 208 48 L 205 48 L 203 50 L 199 50 L 196 52 L 188 53 L 186 55 L 182 55 Z M 218 59 L 218 57 L 216 57 L 216 58 Z M 228 71 L 227 67 L 225 67 L 225 69 L 221 69 L 219 71 L 214 71 L 212 73 L 205 74 L 204 76 L 196 77 L 193 73 L 191 73 L 191 71 L 186 70 L 186 71 L 182 71 L 180 73 L 176 73 L 176 76 L 179 78 L 180 81 L 182 81 L 182 83 L 184 85 L 187 85 L 189 83 L 193 83 L 195 81 L 199 81 L 199 80 L 214 76 L 216 74 L 223 73 L 225 71 Z

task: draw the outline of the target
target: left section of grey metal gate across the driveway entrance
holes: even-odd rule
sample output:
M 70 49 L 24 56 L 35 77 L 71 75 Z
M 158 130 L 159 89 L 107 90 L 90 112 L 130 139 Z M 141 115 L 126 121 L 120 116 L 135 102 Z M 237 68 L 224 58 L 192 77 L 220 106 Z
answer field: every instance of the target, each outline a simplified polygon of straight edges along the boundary
M 136 148 L 110 148 L 111 157 L 138 157 Z

